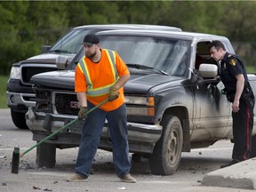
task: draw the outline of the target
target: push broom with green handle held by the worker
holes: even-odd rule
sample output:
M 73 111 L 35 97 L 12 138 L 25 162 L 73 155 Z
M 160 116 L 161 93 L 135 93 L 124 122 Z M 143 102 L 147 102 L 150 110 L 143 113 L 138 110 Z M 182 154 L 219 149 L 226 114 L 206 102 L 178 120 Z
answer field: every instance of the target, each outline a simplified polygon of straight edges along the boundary
M 89 113 L 91 113 L 93 110 L 95 110 L 96 108 L 99 108 L 101 105 L 103 105 L 104 103 L 106 103 L 108 100 L 103 100 L 99 105 L 91 108 L 90 110 L 88 110 L 85 115 L 88 115 Z M 51 139 L 54 135 L 56 135 L 58 132 L 68 128 L 68 126 L 70 126 L 71 124 L 74 124 L 76 121 L 78 120 L 78 118 L 72 120 L 71 122 L 69 122 L 68 124 L 65 124 L 64 126 L 60 127 L 59 130 L 52 132 L 52 134 L 48 135 L 47 137 L 44 138 L 44 140 L 40 140 L 39 142 L 37 142 L 35 145 L 33 145 L 31 148 L 28 148 L 27 150 L 25 150 L 23 153 L 20 153 L 20 148 L 15 147 L 12 153 L 12 173 L 18 174 L 19 173 L 19 167 L 20 167 L 20 157 L 24 156 L 25 154 L 27 154 L 30 150 L 32 150 L 33 148 L 36 148 L 37 146 L 41 145 L 45 140 L 49 140 Z

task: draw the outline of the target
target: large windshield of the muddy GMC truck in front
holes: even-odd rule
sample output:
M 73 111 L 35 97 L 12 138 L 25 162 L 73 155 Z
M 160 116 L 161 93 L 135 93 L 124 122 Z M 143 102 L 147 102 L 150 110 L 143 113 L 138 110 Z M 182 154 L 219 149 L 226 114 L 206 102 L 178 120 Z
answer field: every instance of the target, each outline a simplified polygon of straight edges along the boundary
M 185 76 L 189 44 L 186 40 L 153 36 L 100 36 L 100 47 L 118 52 L 132 70 L 155 68 L 171 76 Z M 69 68 L 76 68 L 83 56 L 84 48 Z

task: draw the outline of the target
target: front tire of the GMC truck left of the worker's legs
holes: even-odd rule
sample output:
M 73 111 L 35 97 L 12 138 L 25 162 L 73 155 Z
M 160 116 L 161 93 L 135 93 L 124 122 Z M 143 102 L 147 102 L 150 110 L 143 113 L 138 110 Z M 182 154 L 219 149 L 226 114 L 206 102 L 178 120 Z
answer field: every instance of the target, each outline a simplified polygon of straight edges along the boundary
M 38 167 L 54 167 L 56 164 L 56 146 L 52 143 L 42 143 L 37 146 L 36 164 Z

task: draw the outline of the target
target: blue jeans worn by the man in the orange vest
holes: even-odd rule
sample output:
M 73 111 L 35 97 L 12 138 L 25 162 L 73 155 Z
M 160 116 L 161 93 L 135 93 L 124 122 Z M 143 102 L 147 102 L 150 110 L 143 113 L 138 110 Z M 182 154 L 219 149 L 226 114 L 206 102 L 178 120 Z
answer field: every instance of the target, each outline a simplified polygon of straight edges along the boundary
M 88 108 L 94 107 L 89 101 L 87 104 Z M 90 175 L 93 159 L 100 143 L 100 133 L 106 118 L 108 119 L 108 130 L 113 147 L 116 174 L 118 177 L 122 177 L 130 172 L 127 112 L 125 104 L 123 104 L 120 108 L 112 111 L 96 108 L 85 119 L 76 159 L 76 173 L 84 177 Z

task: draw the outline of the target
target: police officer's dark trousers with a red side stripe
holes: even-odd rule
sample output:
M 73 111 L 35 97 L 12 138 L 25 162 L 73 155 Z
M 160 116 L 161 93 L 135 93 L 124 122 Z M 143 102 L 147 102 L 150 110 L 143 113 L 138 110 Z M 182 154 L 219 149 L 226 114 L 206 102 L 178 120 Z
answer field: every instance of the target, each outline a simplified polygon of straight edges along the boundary
M 253 126 L 253 107 L 240 100 L 239 111 L 232 112 L 234 148 L 232 158 L 244 161 L 250 158 Z

